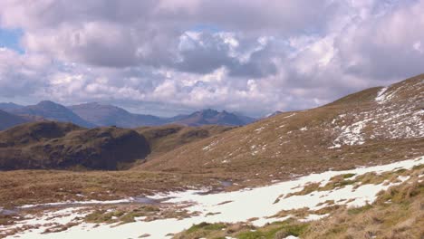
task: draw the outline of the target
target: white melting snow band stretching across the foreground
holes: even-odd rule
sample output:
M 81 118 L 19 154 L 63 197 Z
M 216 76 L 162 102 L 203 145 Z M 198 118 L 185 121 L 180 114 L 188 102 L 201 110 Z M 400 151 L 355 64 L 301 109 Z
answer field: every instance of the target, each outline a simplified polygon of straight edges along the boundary
M 175 205 L 187 205 L 191 212 L 199 212 L 199 215 L 178 219 L 160 219 L 151 222 L 137 221 L 135 223 L 125 225 L 99 225 L 81 223 L 81 209 L 83 207 L 74 207 L 56 211 L 43 215 L 40 218 L 32 218 L 21 222 L 19 225 L 37 225 L 45 223 L 59 222 L 66 224 L 69 222 L 80 222 L 79 225 L 73 226 L 66 231 L 50 234 L 41 234 L 46 227 L 41 226 L 38 229 L 27 230 L 19 235 L 19 238 L 139 238 L 140 235 L 149 234 L 147 238 L 169 238 L 171 234 L 179 233 L 188 229 L 191 225 L 201 222 L 216 223 L 236 223 L 246 222 L 248 219 L 257 217 L 258 219 L 252 223 L 257 226 L 265 225 L 265 223 L 281 221 L 283 218 L 271 217 L 281 210 L 297 209 L 309 207 L 311 210 L 319 209 L 323 206 L 317 206 L 327 200 L 334 200 L 336 204 L 345 204 L 347 206 L 364 206 L 367 202 L 371 203 L 375 200 L 376 195 L 381 190 L 387 189 L 389 186 L 396 184 L 380 184 L 380 185 L 362 185 L 356 189 L 352 185 L 342 188 L 335 188 L 331 191 L 315 191 L 313 193 L 302 196 L 288 196 L 290 193 L 301 191 L 308 183 L 316 182 L 325 185 L 329 180 L 337 175 L 354 174 L 354 177 L 363 175 L 368 172 L 388 172 L 395 169 L 409 169 L 416 165 L 424 164 L 424 157 L 414 158 L 410 160 L 400 161 L 389 165 L 376 167 L 361 167 L 346 171 L 327 171 L 321 174 L 312 174 L 306 177 L 299 177 L 292 181 L 277 183 L 271 186 L 262 186 L 256 188 L 248 188 L 241 191 L 226 192 L 203 195 L 205 191 L 188 190 L 184 192 L 173 192 L 153 196 L 154 199 L 165 199 L 166 203 Z M 408 177 L 400 177 L 400 181 L 405 181 Z M 399 183 L 398 183 L 399 184 Z M 283 195 L 283 196 L 282 196 Z M 280 200 L 276 200 L 280 198 Z M 54 217 L 53 215 L 61 215 L 63 217 Z M 308 215 L 304 220 L 317 220 L 322 215 Z M 76 218 L 76 219 L 75 219 Z M 78 221 L 80 220 L 80 221 Z M 19 225 L 13 225 L 16 227 Z M 2 230 L 7 227 L 0 227 Z M 10 228 L 9 228 L 10 229 Z

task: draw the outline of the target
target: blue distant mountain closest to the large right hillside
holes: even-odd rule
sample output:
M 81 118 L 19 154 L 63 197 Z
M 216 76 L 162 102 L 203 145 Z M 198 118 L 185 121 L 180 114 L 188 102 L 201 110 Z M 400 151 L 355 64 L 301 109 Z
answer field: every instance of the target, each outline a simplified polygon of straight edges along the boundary
M 189 114 L 187 116 L 178 116 L 178 119 L 173 121 L 175 124 L 182 124 L 187 126 L 201 126 L 201 125 L 246 125 L 255 119 L 246 116 L 238 116 L 234 113 L 229 113 L 226 110 L 200 110 Z

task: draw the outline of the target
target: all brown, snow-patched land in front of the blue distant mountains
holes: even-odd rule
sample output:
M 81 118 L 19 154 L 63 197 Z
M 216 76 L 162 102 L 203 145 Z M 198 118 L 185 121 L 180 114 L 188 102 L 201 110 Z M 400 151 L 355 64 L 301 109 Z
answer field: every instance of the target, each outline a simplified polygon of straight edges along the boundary
M 242 127 L 5 129 L 0 237 L 418 238 L 423 78 Z

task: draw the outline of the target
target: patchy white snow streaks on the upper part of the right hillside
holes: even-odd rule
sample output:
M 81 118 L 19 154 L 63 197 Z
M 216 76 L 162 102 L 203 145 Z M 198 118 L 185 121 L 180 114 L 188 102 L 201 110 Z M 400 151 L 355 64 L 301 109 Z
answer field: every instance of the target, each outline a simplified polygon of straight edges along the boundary
M 403 91 L 418 91 L 406 100 Z M 404 93 L 404 92 L 403 92 Z M 332 120 L 338 137 L 330 148 L 342 145 L 361 145 L 367 139 L 410 139 L 424 137 L 424 80 L 412 85 L 384 87 L 375 98 L 377 108 L 360 113 L 342 114 Z M 346 124 L 346 119 L 351 121 Z M 364 129 L 368 129 L 366 133 Z M 371 133 L 370 133 L 371 132 Z

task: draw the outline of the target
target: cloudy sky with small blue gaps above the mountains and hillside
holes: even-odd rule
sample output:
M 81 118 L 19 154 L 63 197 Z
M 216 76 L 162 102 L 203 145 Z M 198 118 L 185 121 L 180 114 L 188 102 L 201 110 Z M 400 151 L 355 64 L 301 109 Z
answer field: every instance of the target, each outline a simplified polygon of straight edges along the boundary
M 424 0 L 2 0 L 0 101 L 304 110 L 424 72 Z

